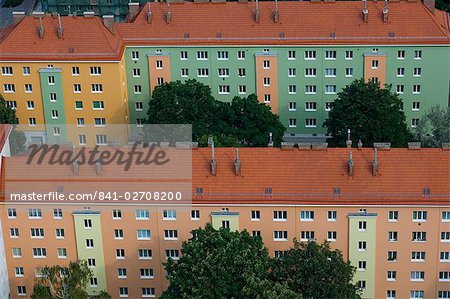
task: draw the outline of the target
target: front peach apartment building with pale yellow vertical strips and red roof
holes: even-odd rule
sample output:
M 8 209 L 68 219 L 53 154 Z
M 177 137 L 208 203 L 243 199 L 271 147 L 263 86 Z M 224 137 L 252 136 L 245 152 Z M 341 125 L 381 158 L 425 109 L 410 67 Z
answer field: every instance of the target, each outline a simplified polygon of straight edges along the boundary
M 209 222 L 260 236 L 280 258 L 294 238 L 327 240 L 357 268 L 363 298 L 448 298 L 448 146 L 379 149 L 377 155 L 354 149 L 352 168 L 349 149 L 238 153 L 216 149 L 212 169 L 211 149 L 192 149 L 192 204 L 5 202 L 0 219 L 11 297 L 29 297 L 44 265 L 75 259 L 87 260 L 94 272 L 91 295 L 106 288 L 113 298 L 157 297 L 167 287 L 162 262 L 178 259 L 190 231 Z M 17 181 L 21 159 L 3 158 L 9 172 L 3 188 Z M 40 179 L 44 173 L 57 176 L 54 186 L 67 178 L 85 182 L 86 175 L 99 188 L 111 173 L 123 182 L 133 177 L 111 165 L 101 174 L 80 166 L 84 176 L 65 165 L 40 169 L 35 179 L 25 179 L 38 190 L 50 184 Z

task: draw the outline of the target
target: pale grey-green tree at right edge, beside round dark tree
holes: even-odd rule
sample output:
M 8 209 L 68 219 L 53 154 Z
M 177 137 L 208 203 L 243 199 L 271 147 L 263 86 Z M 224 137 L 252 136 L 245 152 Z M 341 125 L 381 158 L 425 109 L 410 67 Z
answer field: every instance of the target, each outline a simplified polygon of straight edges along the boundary
M 450 142 L 450 108 L 431 107 L 419 120 L 414 138 L 423 147 L 440 147 L 442 143 Z

